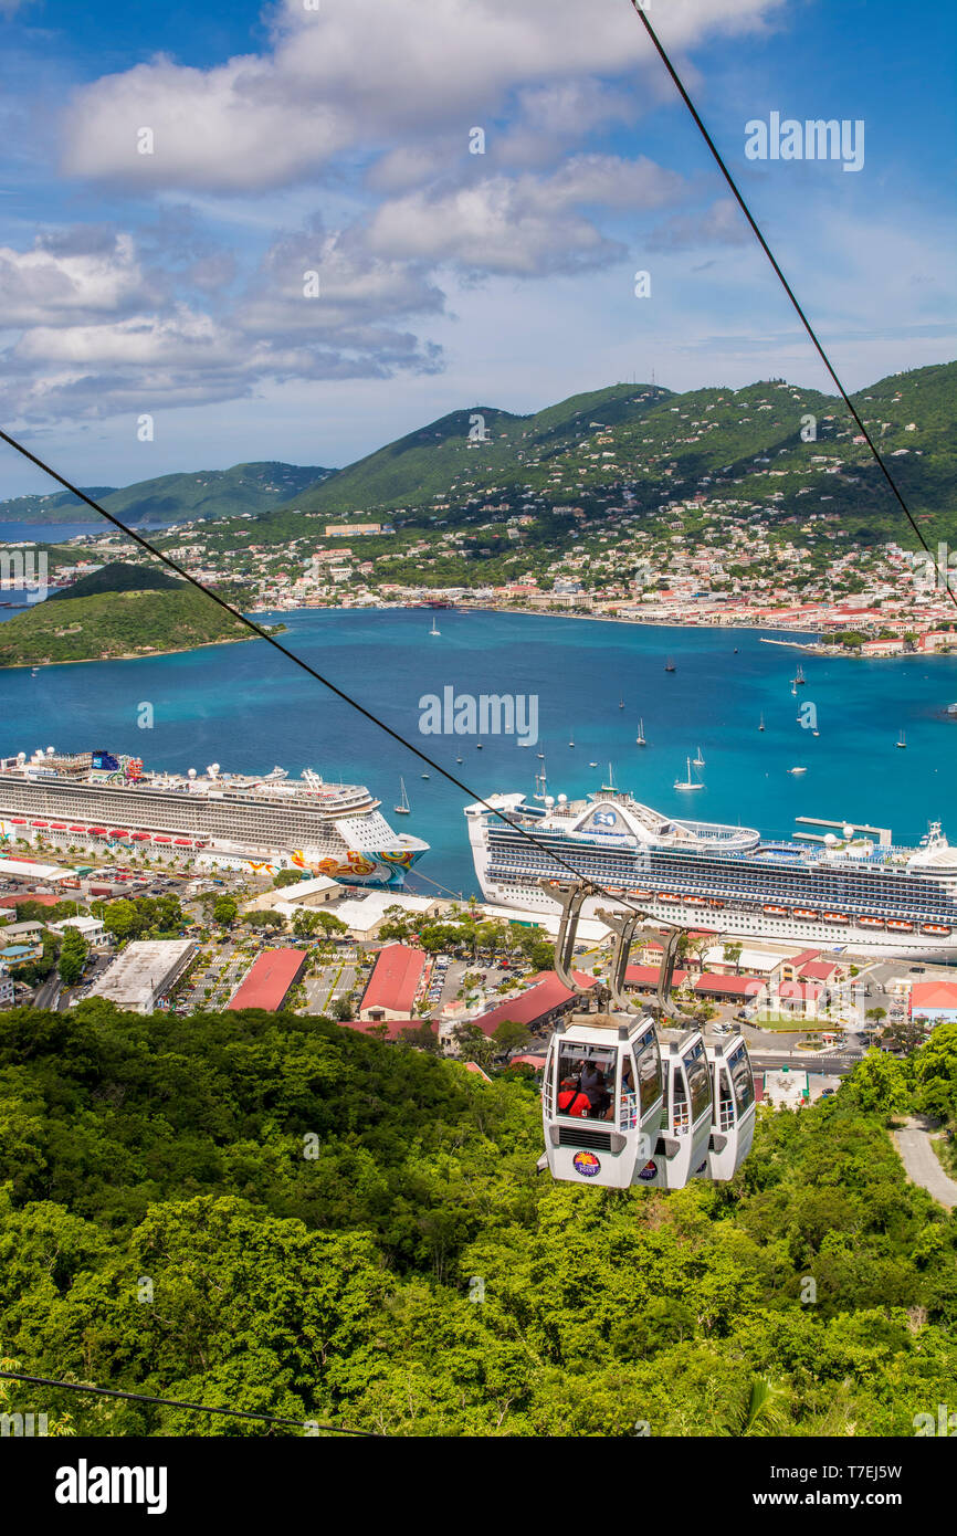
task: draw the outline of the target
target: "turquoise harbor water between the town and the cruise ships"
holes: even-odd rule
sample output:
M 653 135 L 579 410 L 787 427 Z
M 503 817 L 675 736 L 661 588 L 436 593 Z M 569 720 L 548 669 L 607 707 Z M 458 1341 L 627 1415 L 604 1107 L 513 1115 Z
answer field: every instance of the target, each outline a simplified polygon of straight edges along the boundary
M 796 816 L 853 819 L 891 826 L 899 842 L 917 842 L 929 819 L 942 819 L 957 840 L 957 719 L 943 713 L 957 700 L 957 657 L 816 659 L 763 645 L 754 630 L 530 614 L 439 611 L 438 639 L 424 610 L 280 617 L 292 650 L 476 794 L 531 793 L 544 751 L 551 794 L 598 788 L 611 762 L 619 786 L 673 816 L 743 822 L 771 837 L 791 836 Z M 668 657 L 674 673 L 665 673 Z M 799 662 L 806 685 L 794 697 Z M 538 694 L 541 743 L 482 736 L 478 751 L 476 737 L 419 736 L 419 697 L 447 685 L 456 694 Z M 152 730 L 137 727 L 141 703 L 154 707 Z M 817 737 L 797 723 L 811 703 Z M 634 745 L 639 716 L 644 750 Z M 902 728 L 905 751 L 894 745 Z M 390 820 L 404 776 L 412 816 L 393 825 L 432 843 L 412 885 L 429 889 L 429 877 L 476 891 L 465 796 L 435 773 L 422 780 L 418 759 L 263 642 L 45 667 L 35 677 L 29 668 L 0 671 L 0 753 L 51 743 L 106 746 L 175 770 L 313 766 L 367 783 Z M 693 774 L 705 790 L 680 794 L 673 782 L 699 746 L 705 766 Z M 788 774 L 793 766 L 806 773 Z

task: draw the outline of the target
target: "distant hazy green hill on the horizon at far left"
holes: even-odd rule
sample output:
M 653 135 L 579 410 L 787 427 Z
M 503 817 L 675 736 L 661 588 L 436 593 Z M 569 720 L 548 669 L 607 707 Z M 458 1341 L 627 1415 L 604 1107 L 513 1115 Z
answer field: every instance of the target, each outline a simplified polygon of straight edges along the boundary
M 192 518 L 232 518 L 243 511 L 261 513 L 289 501 L 307 485 L 315 485 L 330 470 L 303 464 L 235 464 L 230 470 L 197 470 L 189 475 L 161 475 L 117 490 L 111 485 L 83 487 L 124 522 L 146 519 L 183 521 Z M 77 522 L 95 521 L 95 511 L 69 492 L 49 496 L 15 496 L 0 501 L 2 522 Z

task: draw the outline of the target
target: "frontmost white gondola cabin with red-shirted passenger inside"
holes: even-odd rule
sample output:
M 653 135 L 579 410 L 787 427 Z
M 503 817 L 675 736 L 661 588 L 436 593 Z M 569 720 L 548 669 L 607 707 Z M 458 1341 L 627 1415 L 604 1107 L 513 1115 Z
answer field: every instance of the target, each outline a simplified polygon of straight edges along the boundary
M 556 1028 L 542 1083 L 553 1178 L 627 1189 L 654 1152 L 662 1117 L 661 1051 L 651 1018 L 578 1014 Z

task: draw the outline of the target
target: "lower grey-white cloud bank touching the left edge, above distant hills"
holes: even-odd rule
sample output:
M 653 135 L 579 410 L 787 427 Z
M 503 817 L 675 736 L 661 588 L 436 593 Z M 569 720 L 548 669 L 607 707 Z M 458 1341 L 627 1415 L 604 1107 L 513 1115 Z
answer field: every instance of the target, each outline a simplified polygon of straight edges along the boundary
M 169 229 L 151 237 L 163 246 Z M 189 258 L 186 246 L 184 287 L 232 278 L 229 252 L 200 250 Z M 304 296 L 307 270 L 320 272 L 316 300 Z M 154 281 L 129 233 L 63 230 L 0 250 L 0 310 L 20 332 L 0 350 L 0 401 L 28 419 L 104 416 L 235 399 L 269 381 L 435 372 L 439 349 L 404 323 L 442 303 L 413 267 L 304 230 L 277 241 L 214 315 L 178 296 L 171 275 Z

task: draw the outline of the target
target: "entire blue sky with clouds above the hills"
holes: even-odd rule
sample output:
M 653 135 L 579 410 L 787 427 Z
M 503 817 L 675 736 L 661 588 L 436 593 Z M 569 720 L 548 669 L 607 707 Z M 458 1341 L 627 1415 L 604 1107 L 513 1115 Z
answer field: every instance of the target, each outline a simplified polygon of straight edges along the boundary
M 845 381 L 957 355 L 954 8 L 648 14 Z M 745 158 L 771 112 L 863 120 L 862 169 Z M 0 418 L 81 484 L 651 370 L 825 387 L 628 0 L 0 0 Z

